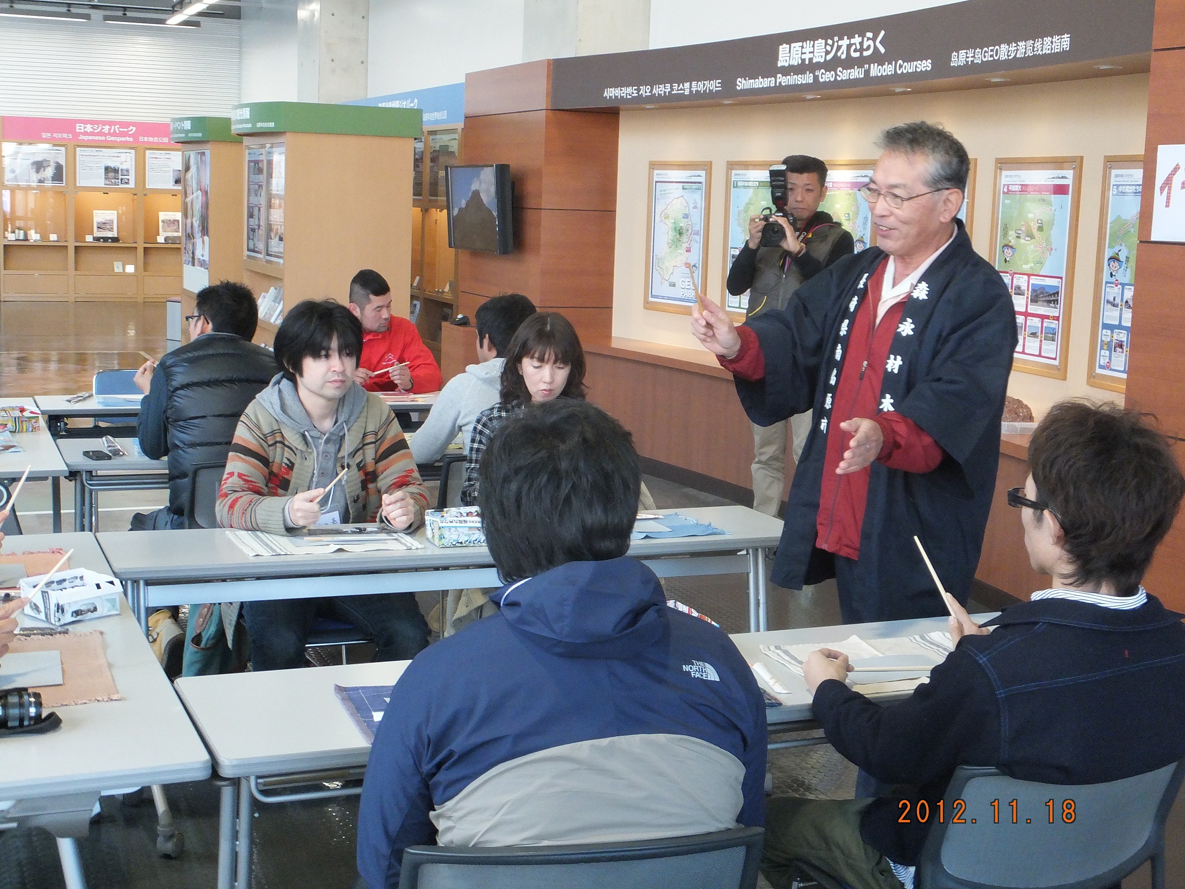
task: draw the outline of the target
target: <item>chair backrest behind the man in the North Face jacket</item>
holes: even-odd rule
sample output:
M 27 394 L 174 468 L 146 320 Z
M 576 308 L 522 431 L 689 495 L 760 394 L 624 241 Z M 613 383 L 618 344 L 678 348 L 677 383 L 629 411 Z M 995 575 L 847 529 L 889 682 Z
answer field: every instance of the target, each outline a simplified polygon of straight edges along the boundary
M 410 846 L 399 889 L 752 889 L 761 827 L 630 843 Z

